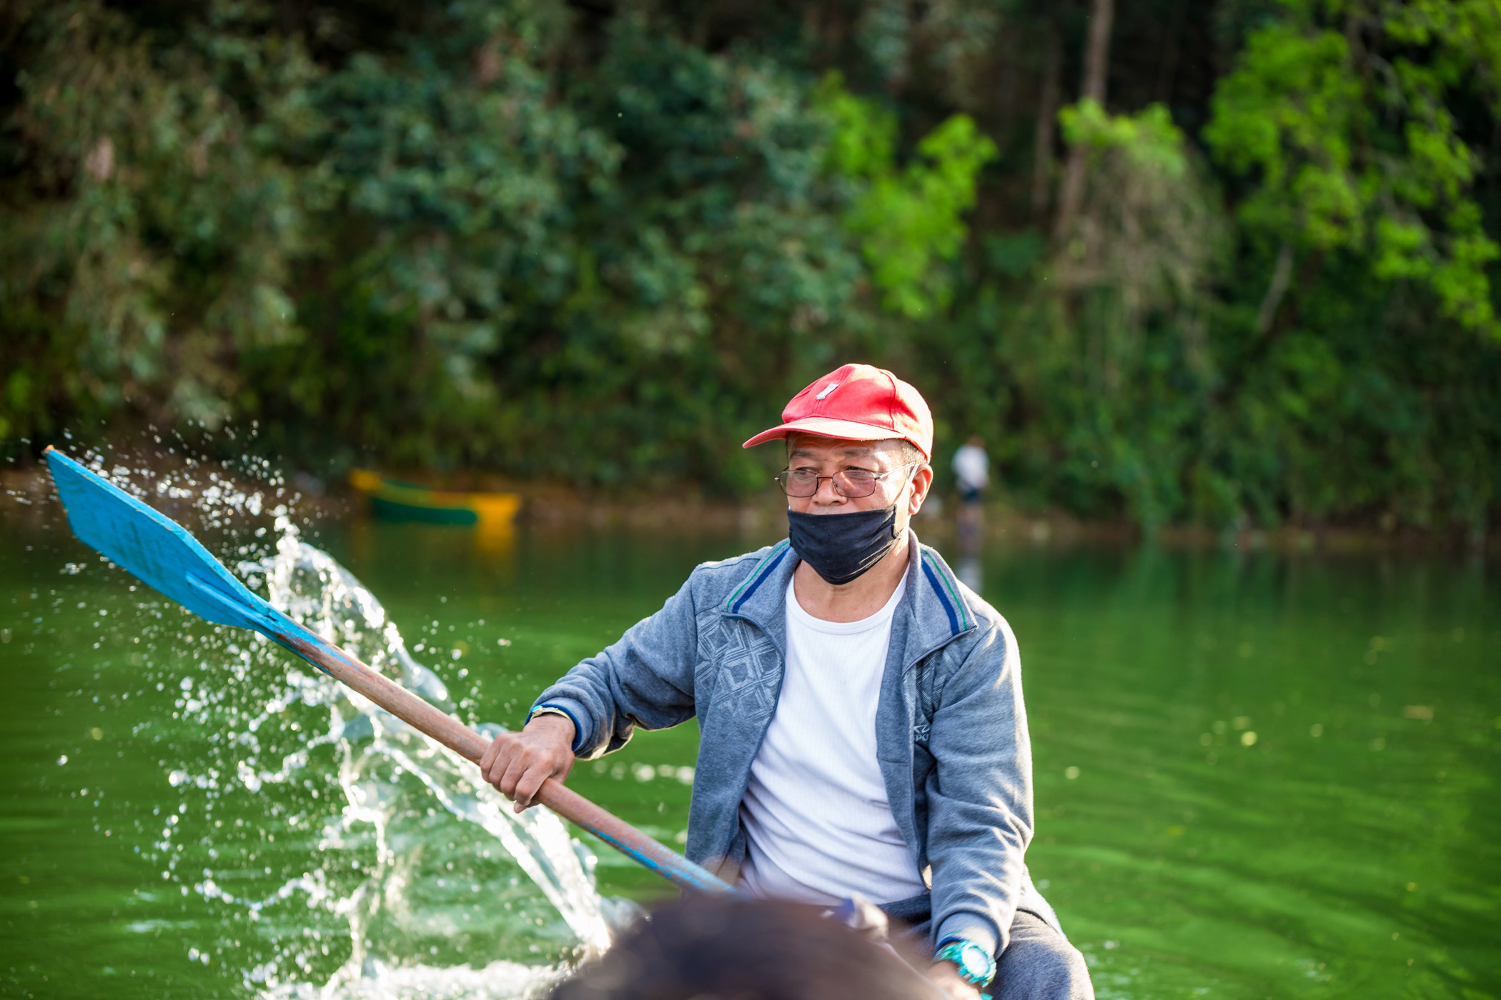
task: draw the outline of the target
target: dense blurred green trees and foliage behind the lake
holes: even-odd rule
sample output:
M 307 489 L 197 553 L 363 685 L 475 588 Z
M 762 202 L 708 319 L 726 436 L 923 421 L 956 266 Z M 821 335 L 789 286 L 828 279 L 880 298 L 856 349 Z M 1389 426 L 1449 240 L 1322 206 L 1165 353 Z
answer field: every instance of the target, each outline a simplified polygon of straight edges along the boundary
M 1501 0 L 1118 0 L 1103 103 L 1102 6 L 18 0 L 0 441 L 738 493 L 860 358 L 1024 504 L 1483 531 Z

